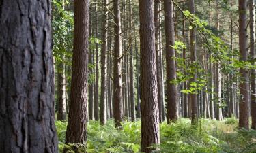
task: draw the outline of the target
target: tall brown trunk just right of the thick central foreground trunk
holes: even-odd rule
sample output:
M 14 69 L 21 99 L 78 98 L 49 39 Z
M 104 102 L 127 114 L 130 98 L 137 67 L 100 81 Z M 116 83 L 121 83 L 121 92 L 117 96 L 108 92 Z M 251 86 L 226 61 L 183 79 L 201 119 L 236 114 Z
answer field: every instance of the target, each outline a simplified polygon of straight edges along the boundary
M 164 0 L 165 10 L 165 39 L 166 39 L 166 63 L 167 63 L 167 122 L 175 121 L 178 118 L 177 109 L 177 86 L 171 83 L 176 79 L 175 65 L 175 43 L 173 2 Z

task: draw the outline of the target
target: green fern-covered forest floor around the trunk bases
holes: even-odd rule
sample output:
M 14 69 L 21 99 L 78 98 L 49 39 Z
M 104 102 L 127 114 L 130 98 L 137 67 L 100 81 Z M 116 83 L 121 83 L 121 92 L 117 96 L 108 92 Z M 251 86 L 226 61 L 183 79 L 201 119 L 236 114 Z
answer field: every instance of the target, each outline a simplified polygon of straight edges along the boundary
M 66 146 L 67 122 L 57 121 L 56 126 L 59 152 L 62 152 Z M 117 130 L 113 120 L 105 126 L 90 120 L 87 152 L 139 153 L 140 129 L 140 121 L 124 122 L 122 130 Z M 160 141 L 158 148 L 166 153 L 256 153 L 256 131 L 238 130 L 238 120 L 234 118 L 223 121 L 201 119 L 197 128 L 184 118 L 171 125 L 163 122 L 160 124 Z

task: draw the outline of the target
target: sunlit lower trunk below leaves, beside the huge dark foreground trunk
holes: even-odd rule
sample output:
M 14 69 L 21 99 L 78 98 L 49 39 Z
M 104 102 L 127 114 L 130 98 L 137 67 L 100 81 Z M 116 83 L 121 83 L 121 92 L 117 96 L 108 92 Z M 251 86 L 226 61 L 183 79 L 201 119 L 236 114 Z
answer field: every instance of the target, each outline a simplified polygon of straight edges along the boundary
M 66 78 L 65 78 L 65 65 L 59 64 L 57 74 L 57 103 L 58 114 L 57 120 L 66 120 Z

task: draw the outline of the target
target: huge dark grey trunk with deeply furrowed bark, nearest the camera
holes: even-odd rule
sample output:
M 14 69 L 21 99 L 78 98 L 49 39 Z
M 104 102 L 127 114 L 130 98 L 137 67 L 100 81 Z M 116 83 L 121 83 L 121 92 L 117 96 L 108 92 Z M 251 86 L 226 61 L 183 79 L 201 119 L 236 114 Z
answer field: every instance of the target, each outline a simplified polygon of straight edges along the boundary
M 57 153 L 51 1 L 0 1 L 0 152 Z

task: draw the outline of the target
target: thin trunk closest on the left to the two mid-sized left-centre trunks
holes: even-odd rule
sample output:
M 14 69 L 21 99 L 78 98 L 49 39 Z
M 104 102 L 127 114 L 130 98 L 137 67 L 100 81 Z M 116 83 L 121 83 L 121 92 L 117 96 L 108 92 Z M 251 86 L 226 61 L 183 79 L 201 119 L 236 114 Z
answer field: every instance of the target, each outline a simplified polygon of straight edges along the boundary
M 95 3 L 95 35 L 98 38 L 98 5 Z M 98 42 L 96 43 L 96 70 L 95 70 L 95 88 L 94 88 L 94 118 L 95 120 L 99 120 L 99 61 L 98 61 Z

